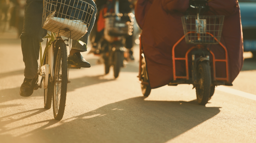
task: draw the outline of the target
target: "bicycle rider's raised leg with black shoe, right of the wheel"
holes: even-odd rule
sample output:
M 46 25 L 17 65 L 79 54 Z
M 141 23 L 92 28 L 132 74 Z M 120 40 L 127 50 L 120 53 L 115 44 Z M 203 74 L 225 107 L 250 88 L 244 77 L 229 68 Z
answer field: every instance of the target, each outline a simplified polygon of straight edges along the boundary
M 88 27 L 88 32 L 82 38 L 79 39 L 80 41 L 84 42 L 85 44 L 81 45 L 78 41 L 73 40 L 72 48 L 70 51 L 70 56 L 68 58 L 69 58 L 71 64 L 74 64 L 78 67 L 91 67 L 91 64 L 83 58 L 83 55 L 80 52 L 87 51 L 88 37 L 89 37 L 92 27 L 94 25 L 95 14 L 97 13 L 97 8 L 96 8 L 96 5 L 93 0 L 84 0 L 84 1 L 88 2 L 89 4 L 92 4 L 92 6 L 94 6 L 95 11 L 92 15 L 91 22 L 89 23 L 90 26 Z

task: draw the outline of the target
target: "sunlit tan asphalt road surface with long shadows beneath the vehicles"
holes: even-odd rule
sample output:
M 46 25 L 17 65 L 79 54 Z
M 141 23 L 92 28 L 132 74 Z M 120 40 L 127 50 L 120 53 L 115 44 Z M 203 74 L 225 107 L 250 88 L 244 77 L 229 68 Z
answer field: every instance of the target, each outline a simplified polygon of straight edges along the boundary
M 52 108 L 43 108 L 42 89 L 19 96 L 20 41 L 2 35 L 0 143 L 256 142 L 256 60 L 247 58 L 234 86 L 217 88 L 204 107 L 192 85 L 164 86 L 143 97 L 134 50 L 135 61 L 117 79 L 113 69 L 104 75 L 97 56 L 84 54 L 92 66 L 70 70 L 64 117 L 57 121 Z

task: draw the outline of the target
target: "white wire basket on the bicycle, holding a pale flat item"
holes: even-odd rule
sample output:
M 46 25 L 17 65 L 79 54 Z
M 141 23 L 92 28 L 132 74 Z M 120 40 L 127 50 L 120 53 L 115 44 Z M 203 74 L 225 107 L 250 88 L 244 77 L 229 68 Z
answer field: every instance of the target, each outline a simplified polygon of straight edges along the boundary
M 42 26 L 77 40 L 86 34 L 93 13 L 94 7 L 82 0 L 44 0 Z

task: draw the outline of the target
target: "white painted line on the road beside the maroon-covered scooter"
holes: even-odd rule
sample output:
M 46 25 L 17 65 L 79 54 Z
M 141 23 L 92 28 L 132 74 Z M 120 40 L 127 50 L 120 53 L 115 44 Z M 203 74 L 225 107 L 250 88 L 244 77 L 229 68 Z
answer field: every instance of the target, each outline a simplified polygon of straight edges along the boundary
M 251 93 L 247 93 L 247 92 L 243 92 L 243 91 L 240 91 L 240 90 L 228 88 L 226 86 L 218 86 L 218 87 L 215 88 L 215 90 L 230 93 L 230 94 L 233 94 L 233 95 L 241 96 L 241 97 L 252 99 L 252 100 L 256 101 L 256 95 L 251 94 Z

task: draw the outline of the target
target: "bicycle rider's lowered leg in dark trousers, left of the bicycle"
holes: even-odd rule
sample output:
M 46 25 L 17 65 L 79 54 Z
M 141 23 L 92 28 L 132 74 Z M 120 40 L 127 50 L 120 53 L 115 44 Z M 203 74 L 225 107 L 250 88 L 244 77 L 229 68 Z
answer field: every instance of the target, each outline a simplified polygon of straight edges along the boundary
M 25 6 L 24 26 L 21 38 L 21 50 L 25 63 L 24 82 L 21 85 L 20 95 L 30 96 L 38 77 L 38 63 L 40 42 L 47 31 L 42 28 L 43 0 L 27 0 Z

